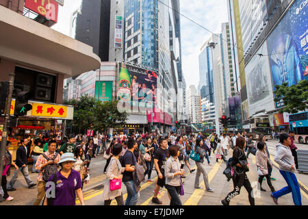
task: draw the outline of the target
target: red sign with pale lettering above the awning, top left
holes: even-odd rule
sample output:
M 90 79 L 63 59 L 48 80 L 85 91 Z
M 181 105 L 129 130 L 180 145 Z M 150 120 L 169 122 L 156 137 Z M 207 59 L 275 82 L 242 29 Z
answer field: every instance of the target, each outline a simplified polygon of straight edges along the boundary
M 25 8 L 57 23 L 59 5 L 54 0 L 25 0 Z

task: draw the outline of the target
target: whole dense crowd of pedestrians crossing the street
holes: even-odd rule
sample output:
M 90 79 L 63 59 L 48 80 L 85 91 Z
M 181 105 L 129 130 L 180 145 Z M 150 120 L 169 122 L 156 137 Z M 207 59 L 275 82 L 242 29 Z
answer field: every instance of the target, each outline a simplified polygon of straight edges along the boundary
M 162 204 L 158 194 L 161 188 L 166 188 L 170 205 L 182 205 L 180 195 L 185 189 L 184 179 L 186 165 L 190 173 L 196 170 L 194 189 L 202 190 L 199 186 L 201 174 L 207 192 L 214 192 L 209 185 L 207 171 L 205 170 L 205 158 L 207 165 L 211 166 L 209 158 L 216 157 L 216 162 L 222 159 L 231 168 L 233 190 L 221 201 L 222 205 L 229 205 L 231 198 L 240 194 L 242 186 L 248 192 L 248 200 L 255 205 L 251 183 L 246 175 L 249 171 L 248 155 L 255 155 L 259 190 L 262 181 L 266 178 L 270 188 L 270 196 L 274 203 L 278 204 L 278 198 L 292 192 L 295 205 L 301 205 L 300 190 L 294 170 L 298 168 L 296 146 L 294 145 L 294 133 L 279 136 L 277 155 L 274 161 L 279 164 L 279 172 L 287 182 L 287 186 L 276 191 L 272 185 L 275 179 L 271 177 L 272 162 L 266 145 L 265 136 L 260 135 L 257 142 L 253 137 L 244 133 L 222 133 L 218 136 L 210 133 L 205 136 L 180 135 L 168 133 L 133 133 L 130 136 L 124 133 L 110 135 L 98 134 L 93 138 L 86 135 L 70 135 L 68 138 L 43 138 L 38 134 L 37 138 L 25 136 L 16 151 L 16 163 L 12 161 L 12 155 L 8 151 L 10 142 L 5 151 L 5 161 L 1 187 L 5 201 L 14 198 L 8 192 L 16 190 L 14 184 L 18 179 L 18 172 L 23 177 L 28 188 L 37 188 L 37 197 L 34 205 L 75 205 L 76 195 L 81 205 L 84 205 L 82 189 L 84 184 L 90 181 L 90 162 L 92 158 L 103 154 L 106 159 L 103 174 L 107 183 L 104 185 L 104 205 L 110 205 L 116 199 L 118 205 L 136 205 L 140 197 L 140 184 L 142 181 L 153 182 L 152 171 L 157 173 L 152 202 Z M 31 146 L 33 149 L 30 150 Z M 229 155 L 229 159 L 227 156 Z M 38 173 L 37 183 L 31 181 L 27 166 L 27 159 L 32 157 L 32 172 Z M 196 169 L 191 168 L 190 159 L 194 159 Z M 295 161 L 295 162 L 294 162 Z M 10 166 L 14 166 L 15 172 L 10 182 Z M 147 178 L 147 179 L 146 179 Z M 47 186 L 48 185 L 48 186 Z M 123 186 L 127 190 L 127 198 L 123 201 Z M 53 194 L 53 195 L 52 195 Z

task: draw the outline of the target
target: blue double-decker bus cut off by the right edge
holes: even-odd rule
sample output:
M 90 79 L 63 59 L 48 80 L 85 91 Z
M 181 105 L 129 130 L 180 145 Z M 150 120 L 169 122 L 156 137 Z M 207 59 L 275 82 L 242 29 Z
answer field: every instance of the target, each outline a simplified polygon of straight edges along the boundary
M 290 130 L 295 132 L 294 140 L 300 144 L 308 144 L 308 112 L 289 115 Z

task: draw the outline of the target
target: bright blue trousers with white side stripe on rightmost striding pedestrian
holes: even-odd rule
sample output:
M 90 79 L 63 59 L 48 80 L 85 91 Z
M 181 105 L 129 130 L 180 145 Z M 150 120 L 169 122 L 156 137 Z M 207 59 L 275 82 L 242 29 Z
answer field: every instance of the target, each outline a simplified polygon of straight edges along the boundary
M 281 190 L 277 192 L 273 192 L 272 196 L 274 196 L 275 198 L 279 198 L 280 196 L 284 196 L 285 194 L 292 192 L 294 205 L 302 205 L 302 199 L 300 196 L 300 188 L 299 188 L 298 181 L 294 173 L 283 171 L 283 170 L 279 170 L 279 172 L 281 173 L 281 175 L 283 175 L 283 178 L 285 178 L 285 181 L 287 182 L 287 186 L 285 186 L 284 188 L 282 188 Z

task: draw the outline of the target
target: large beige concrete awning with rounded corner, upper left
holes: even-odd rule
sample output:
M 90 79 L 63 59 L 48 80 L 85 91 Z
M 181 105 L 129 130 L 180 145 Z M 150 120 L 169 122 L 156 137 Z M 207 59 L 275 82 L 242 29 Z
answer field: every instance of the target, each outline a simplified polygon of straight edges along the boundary
M 93 48 L 0 5 L 0 57 L 73 77 L 99 68 Z

